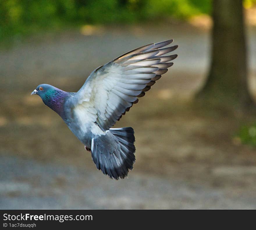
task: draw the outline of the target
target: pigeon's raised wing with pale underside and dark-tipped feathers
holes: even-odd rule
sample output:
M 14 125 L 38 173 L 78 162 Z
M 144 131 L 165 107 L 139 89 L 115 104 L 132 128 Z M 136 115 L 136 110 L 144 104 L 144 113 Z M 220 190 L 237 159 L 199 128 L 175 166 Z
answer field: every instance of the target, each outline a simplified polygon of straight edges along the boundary
M 79 117 L 108 130 L 173 65 L 177 55 L 164 55 L 178 47 L 165 47 L 172 42 L 139 47 L 95 69 L 69 103 Z

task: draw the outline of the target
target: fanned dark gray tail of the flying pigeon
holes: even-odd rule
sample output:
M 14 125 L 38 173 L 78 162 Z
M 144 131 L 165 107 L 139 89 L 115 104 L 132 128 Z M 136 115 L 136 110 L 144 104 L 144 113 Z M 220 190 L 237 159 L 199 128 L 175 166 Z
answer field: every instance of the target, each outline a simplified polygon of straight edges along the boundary
M 92 158 L 97 169 L 110 178 L 124 179 L 135 162 L 135 137 L 131 127 L 109 129 L 104 136 L 93 138 Z

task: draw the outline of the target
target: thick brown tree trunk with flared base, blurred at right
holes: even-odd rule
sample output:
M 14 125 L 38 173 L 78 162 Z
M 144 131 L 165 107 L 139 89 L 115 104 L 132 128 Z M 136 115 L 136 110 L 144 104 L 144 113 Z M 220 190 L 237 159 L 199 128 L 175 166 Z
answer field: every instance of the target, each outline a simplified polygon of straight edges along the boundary
M 214 0 L 212 17 L 211 68 L 199 97 L 252 106 L 247 85 L 242 0 Z

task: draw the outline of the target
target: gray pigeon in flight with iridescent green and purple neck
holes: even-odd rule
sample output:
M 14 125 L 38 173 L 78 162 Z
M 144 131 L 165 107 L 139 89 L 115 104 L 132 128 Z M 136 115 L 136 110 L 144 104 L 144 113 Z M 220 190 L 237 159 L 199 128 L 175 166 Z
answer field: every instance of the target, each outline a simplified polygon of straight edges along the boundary
M 39 95 L 91 152 L 98 170 L 111 179 L 124 179 L 135 162 L 132 127 L 111 128 L 138 98 L 168 71 L 177 54 L 173 39 L 131 50 L 95 69 L 77 92 L 40 84 Z

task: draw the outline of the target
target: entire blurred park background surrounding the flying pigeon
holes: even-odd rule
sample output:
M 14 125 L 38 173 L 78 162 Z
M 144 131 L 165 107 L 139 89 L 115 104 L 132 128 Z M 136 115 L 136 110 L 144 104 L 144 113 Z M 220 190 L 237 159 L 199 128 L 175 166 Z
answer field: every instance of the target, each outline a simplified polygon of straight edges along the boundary
M 256 208 L 255 0 L 3 0 L 1 209 Z M 115 181 L 30 93 L 174 39 L 169 72 L 115 125 L 136 163 Z

